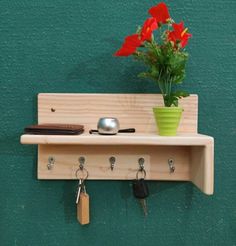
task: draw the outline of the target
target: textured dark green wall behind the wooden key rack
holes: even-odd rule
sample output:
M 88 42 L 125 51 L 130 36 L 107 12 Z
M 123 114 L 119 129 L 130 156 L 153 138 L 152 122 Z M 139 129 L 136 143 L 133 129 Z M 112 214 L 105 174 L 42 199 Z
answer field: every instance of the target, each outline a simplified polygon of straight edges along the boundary
M 130 182 L 89 181 L 91 224 L 76 221 L 75 181 L 36 180 L 36 147 L 22 146 L 39 92 L 158 92 L 142 65 L 114 58 L 155 1 L 0 3 L 0 245 L 236 245 L 235 0 L 168 1 L 193 38 L 183 86 L 199 94 L 199 131 L 215 137 L 215 193 L 150 182 L 149 216 Z

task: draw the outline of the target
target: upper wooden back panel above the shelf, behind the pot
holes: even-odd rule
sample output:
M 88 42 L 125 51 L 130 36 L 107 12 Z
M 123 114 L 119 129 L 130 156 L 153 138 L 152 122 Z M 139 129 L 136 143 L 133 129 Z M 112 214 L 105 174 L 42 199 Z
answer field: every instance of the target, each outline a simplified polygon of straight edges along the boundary
M 152 108 L 163 106 L 160 94 L 53 94 L 38 95 L 38 123 L 85 125 L 96 129 L 101 117 L 116 117 L 120 128 L 135 127 L 138 133 L 156 133 Z M 179 133 L 197 133 L 198 97 L 180 100 L 184 112 Z

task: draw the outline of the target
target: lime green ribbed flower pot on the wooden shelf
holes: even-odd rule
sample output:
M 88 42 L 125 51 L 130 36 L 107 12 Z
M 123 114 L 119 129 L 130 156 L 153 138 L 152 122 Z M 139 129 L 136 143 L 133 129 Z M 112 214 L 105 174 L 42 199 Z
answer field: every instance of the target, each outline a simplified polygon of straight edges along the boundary
M 183 109 L 180 107 L 155 107 L 153 113 L 161 136 L 175 136 Z

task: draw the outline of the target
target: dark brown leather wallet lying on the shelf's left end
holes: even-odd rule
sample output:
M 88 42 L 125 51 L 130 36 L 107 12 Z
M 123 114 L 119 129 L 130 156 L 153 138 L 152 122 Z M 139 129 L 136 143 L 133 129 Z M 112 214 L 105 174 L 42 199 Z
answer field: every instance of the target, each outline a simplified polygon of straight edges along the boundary
M 84 132 L 84 126 L 70 124 L 39 124 L 27 126 L 24 131 L 27 134 L 38 135 L 78 135 Z

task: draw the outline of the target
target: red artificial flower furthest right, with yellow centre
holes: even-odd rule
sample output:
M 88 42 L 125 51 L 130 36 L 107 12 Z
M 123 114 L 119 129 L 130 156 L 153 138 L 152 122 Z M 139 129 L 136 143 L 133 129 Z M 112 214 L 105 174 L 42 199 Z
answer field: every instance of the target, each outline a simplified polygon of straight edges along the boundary
M 192 37 L 192 34 L 187 33 L 188 28 L 184 28 L 184 22 L 180 22 L 179 24 L 173 23 L 173 31 L 168 32 L 167 39 L 174 43 L 175 46 L 180 44 L 181 48 L 184 48 L 187 43 L 188 39 Z

